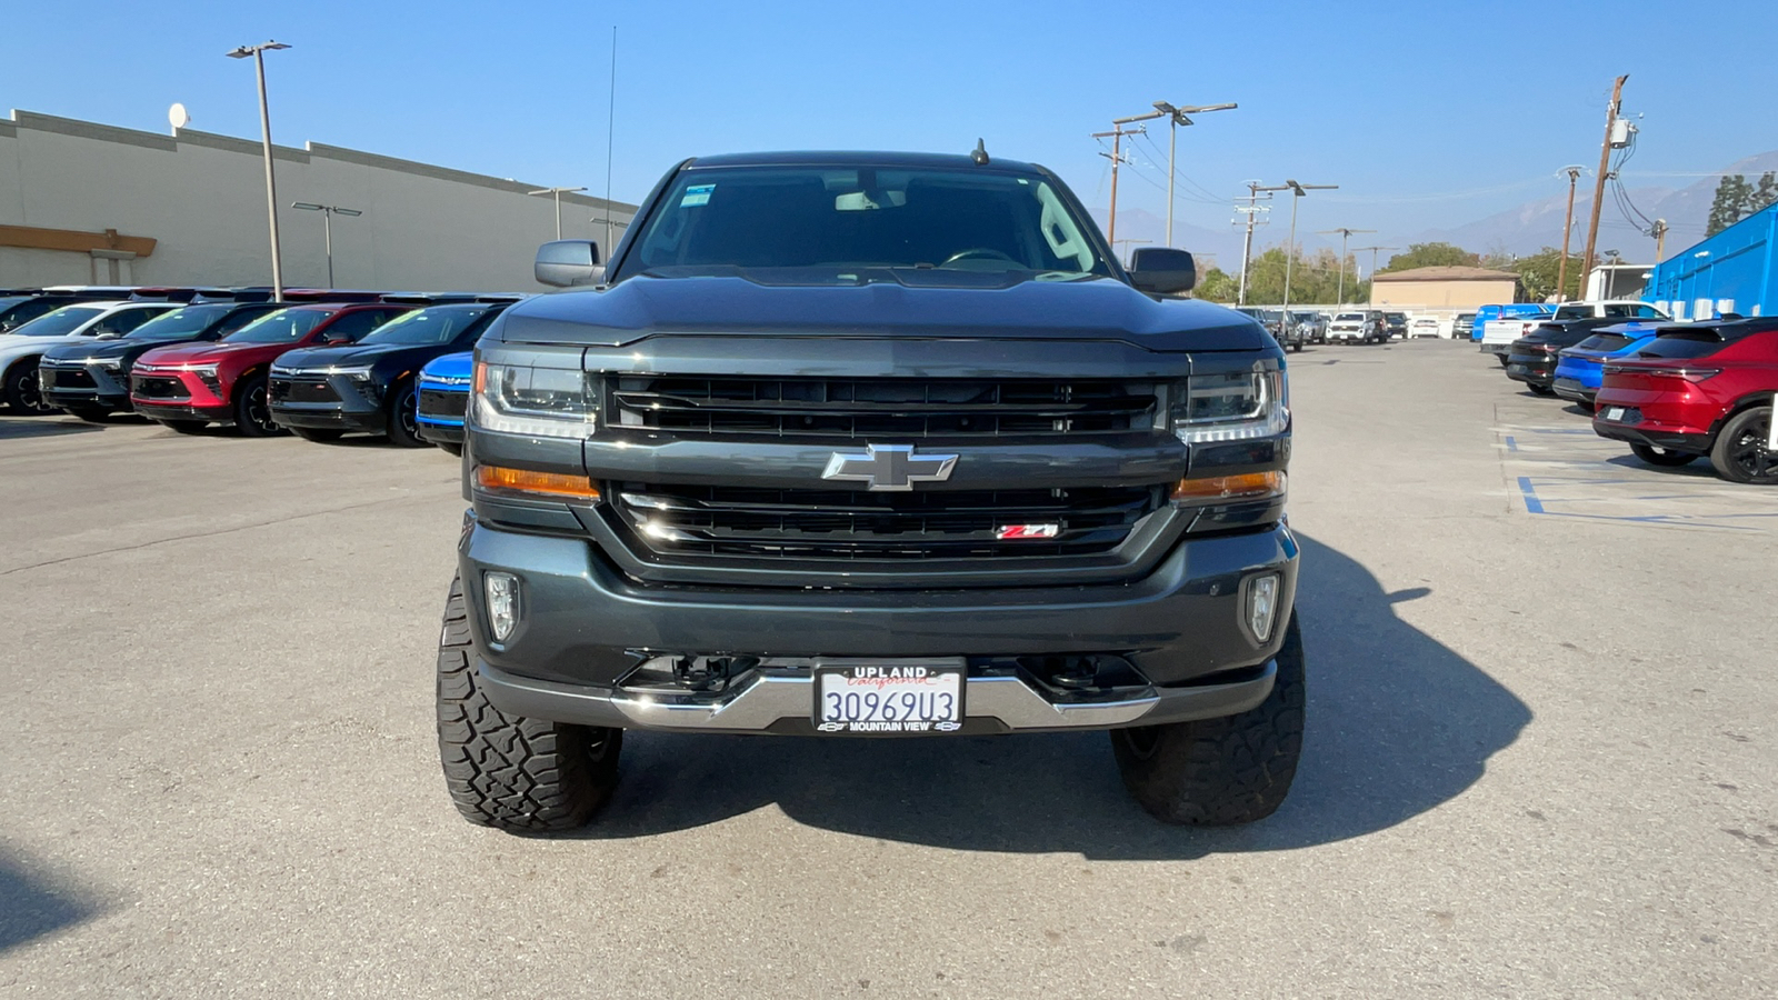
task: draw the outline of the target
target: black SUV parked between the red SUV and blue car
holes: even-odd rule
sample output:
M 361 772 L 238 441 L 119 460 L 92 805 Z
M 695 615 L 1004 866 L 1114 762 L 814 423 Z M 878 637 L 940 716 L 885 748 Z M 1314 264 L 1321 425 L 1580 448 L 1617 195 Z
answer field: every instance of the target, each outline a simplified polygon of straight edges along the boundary
M 292 351 L 272 363 L 267 393 L 272 422 L 311 441 L 348 431 L 388 434 L 407 448 L 420 438 L 414 383 L 427 361 L 468 351 L 487 324 L 517 295 L 487 295 L 471 302 L 427 306 L 396 317 L 361 340 Z M 386 302 L 411 302 L 386 295 Z

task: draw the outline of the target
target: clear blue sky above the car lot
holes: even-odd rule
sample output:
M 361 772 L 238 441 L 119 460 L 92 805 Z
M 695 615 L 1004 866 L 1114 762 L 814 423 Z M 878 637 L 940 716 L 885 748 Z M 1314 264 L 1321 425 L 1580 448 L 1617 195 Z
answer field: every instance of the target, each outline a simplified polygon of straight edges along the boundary
M 279 12 L 281 7 L 288 7 Z M 514 11 L 514 12 L 505 12 Z M 523 12 L 519 12 L 523 11 Z M 1056 169 L 1092 205 L 1090 132 L 1239 101 L 1181 132 L 1179 219 L 1227 230 L 1248 178 L 1339 183 L 1303 230 L 1380 238 L 1559 194 L 1593 164 L 1613 77 L 1641 114 L 1630 187 L 1682 187 L 1778 148 L 1778 4 L 240 4 L 12 9 L 0 105 L 164 132 L 258 135 L 244 43 L 270 53 L 274 137 L 635 201 L 674 160 L 777 148 L 990 153 Z M 1120 205 L 1165 214 L 1165 128 Z

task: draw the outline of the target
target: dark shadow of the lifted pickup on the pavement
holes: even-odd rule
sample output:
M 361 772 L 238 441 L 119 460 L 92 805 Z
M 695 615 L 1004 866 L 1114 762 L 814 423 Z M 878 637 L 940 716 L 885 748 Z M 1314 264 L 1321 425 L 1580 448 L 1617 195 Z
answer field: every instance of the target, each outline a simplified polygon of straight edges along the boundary
M 1125 794 L 1104 733 L 973 738 L 626 733 L 615 799 L 581 833 L 629 838 L 775 804 L 837 833 L 960 851 L 1186 859 L 1387 829 L 1463 794 L 1531 710 L 1396 617 L 1357 560 L 1298 536 L 1309 653 L 1303 762 L 1289 801 L 1245 827 L 1168 827 Z

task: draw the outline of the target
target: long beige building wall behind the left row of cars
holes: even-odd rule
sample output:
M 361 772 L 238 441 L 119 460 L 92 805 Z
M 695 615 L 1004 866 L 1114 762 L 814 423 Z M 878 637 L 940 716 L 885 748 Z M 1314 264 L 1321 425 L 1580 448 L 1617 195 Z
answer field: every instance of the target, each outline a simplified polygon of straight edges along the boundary
M 537 244 L 557 235 L 542 183 L 309 142 L 276 146 L 284 285 L 325 286 L 320 212 L 340 288 L 537 292 Z M 601 164 L 603 165 L 603 164 Z M 558 180 L 558 178 L 553 178 Z M 606 242 L 637 208 L 562 196 L 562 235 Z M 270 285 L 258 139 L 171 135 L 12 112 L 0 117 L 0 286 Z

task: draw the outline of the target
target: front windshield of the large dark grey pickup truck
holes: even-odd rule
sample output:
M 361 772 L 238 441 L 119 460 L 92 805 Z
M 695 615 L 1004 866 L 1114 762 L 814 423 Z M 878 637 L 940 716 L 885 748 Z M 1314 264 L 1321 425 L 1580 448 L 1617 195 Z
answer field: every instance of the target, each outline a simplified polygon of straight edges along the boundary
M 1035 174 L 923 167 L 692 169 L 637 240 L 654 274 L 861 267 L 1109 276 L 1092 222 Z

